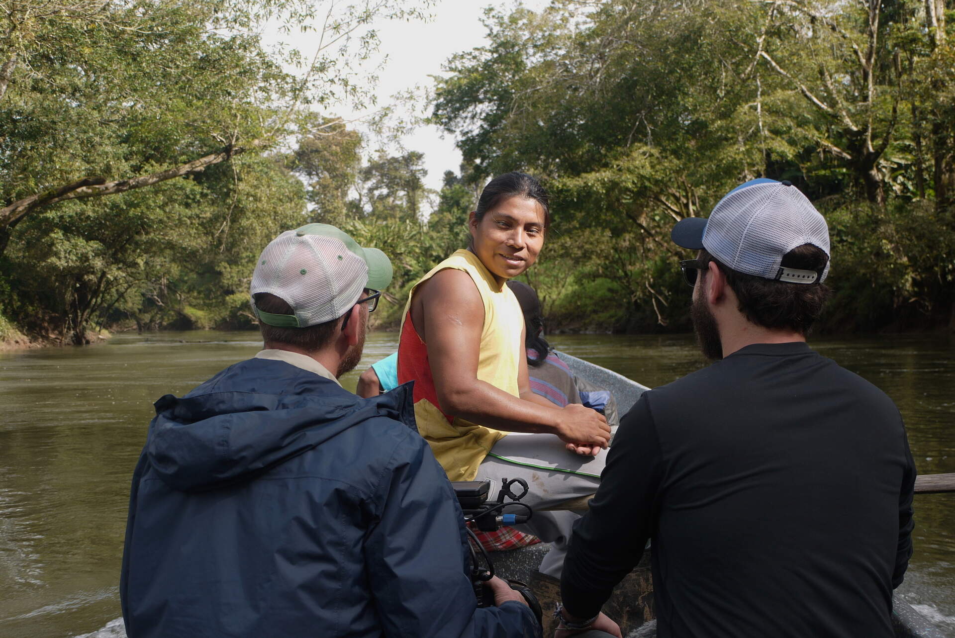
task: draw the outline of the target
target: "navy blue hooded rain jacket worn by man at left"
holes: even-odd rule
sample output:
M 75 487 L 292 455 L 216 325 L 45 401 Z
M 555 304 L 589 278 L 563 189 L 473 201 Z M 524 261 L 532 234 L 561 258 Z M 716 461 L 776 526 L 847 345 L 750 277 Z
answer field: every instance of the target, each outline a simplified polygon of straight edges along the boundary
M 477 608 L 410 384 L 361 399 L 249 359 L 156 412 L 123 552 L 130 638 L 540 636 L 526 606 Z

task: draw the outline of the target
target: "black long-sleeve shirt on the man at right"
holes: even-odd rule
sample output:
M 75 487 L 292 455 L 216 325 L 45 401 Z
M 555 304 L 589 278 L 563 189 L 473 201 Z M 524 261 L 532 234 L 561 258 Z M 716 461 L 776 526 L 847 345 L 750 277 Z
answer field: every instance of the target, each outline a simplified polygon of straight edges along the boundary
M 804 343 L 747 346 L 624 417 L 563 604 L 597 613 L 652 539 L 661 638 L 892 636 L 914 481 L 888 396 Z

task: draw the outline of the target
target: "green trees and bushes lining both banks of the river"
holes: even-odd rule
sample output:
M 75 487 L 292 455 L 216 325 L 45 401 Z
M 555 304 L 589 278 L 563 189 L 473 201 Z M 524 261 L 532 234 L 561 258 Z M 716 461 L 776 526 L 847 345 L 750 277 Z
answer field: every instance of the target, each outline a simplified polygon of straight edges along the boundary
M 370 0 L 27 0 L 0 6 L 0 340 L 249 328 L 261 248 L 306 222 L 392 256 L 379 321 L 456 247 L 490 176 L 552 193 L 550 330 L 688 330 L 669 228 L 754 177 L 829 222 L 820 330 L 955 329 L 955 2 L 554 0 L 488 10 L 488 44 L 435 79 L 463 163 L 438 192 L 414 150 L 333 117 Z M 318 53 L 266 46 L 265 24 Z M 314 55 L 314 57 L 312 57 Z M 299 73 L 294 70 L 298 69 Z M 392 113 L 414 105 L 400 101 Z

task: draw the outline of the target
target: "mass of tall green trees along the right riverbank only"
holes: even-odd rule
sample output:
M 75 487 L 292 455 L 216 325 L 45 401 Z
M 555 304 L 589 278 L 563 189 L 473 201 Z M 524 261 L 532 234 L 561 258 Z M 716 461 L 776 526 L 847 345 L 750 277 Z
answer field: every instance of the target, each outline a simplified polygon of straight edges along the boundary
M 433 119 L 482 177 L 518 169 L 546 182 L 554 230 L 531 277 L 570 323 L 610 303 L 625 309 L 604 326 L 686 326 L 686 305 L 672 303 L 687 291 L 669 228 L 761 176 L 796 182 L 838 220 L 834 237 L 852 238 L 838 245 L 845 254 L 859 255 L 863 228 L 880 218 L 880 246 L 901 266 L 872 267 L 874 251 L 837 261 L 844 281 L 879 275 L 868 301 L 837 295 L 836 306 L 871 317 L 859 328 L 884 321 L 867 311 L 876 298 L 917 323 L 950 306 L 955 272 L 939 199 L 955 175 L 943 10 L 939 0 L 554 0 L 491 11 L 490 44 L 457 54 L 437 79 Z M 919 206 L 907 221 L 923 197 L 940 212 Z M 863 213 L 859 200 L 875 208 Z M 926 253 L 930 220 L 946 230 Z

